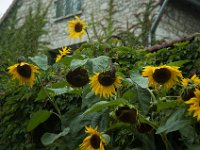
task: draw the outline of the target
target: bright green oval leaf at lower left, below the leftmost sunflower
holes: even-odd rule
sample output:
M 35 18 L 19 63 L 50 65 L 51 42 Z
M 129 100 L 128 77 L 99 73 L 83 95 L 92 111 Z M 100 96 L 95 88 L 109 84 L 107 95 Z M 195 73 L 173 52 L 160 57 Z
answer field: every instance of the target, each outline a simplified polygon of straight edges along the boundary
M 35 129 L 39 124 L 45 122 L 51 115 L 48 110 L 39 110 L 34 112 L 28 122 L 27 131 Z

